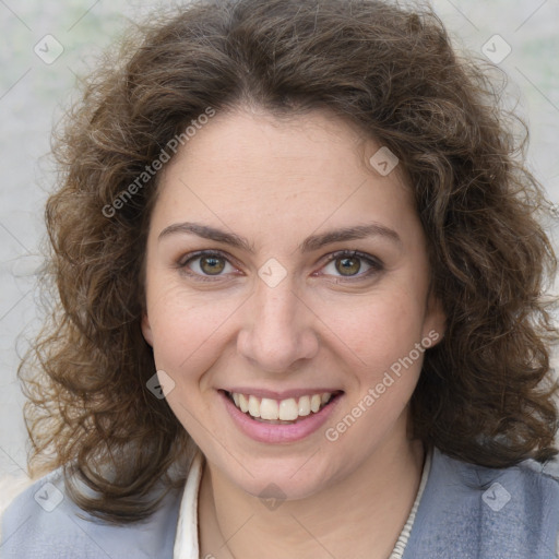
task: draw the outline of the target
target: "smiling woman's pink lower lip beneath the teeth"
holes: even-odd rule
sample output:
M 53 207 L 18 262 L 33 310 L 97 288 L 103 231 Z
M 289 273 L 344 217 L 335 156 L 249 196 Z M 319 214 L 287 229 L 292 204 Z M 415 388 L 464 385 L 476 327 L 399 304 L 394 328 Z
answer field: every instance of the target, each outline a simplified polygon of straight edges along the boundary
M 299 441 L 316 432 L 326 421 L 342 397 L 342 394 L 335 396 L 320 412 L 310 414 L 296 424 L 265 424 L 243 414 L 224 392 L 219 392 L 219 395 L 235 425 L 245 435 L 258 442 L 273 443 Z

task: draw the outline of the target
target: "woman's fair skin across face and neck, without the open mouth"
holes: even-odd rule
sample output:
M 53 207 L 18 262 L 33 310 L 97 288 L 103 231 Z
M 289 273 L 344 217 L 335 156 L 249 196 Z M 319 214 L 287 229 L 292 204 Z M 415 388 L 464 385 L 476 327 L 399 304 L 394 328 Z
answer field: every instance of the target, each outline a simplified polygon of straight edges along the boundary
M 201 557 L 385 558 L 409 514 L 424 448 L 408 438 L 408 402 L 423 354 L 336 441 L 324 436 L 444 328 L 409 189 L 397 167 L 384 177 L 368 163 L 379 147 L 326 111 L 278 120 L 240 107 L 213 117 L 163 170 L 142 329 L 175 382 L 167 401 L 206 459 Z M 185 231 L 159 238 L 185 222 L 234 233 L 253 251 Z M 400 240 L 370 235 L 300 250 L 311 235 L 372 222 Z M 209 281 L 190 260 L 199 250 L 228 258 Z M 347 277 L 343 258 L 329 262 L 340 250 L 382 264 L 345 261 L 360 264 Z M 258 275 L 271 258 L 287 273 L 275 287 Z M 344 394 L 318 431 L 272 444 L 230 419 L 217 390 L 238 385 Z M 275 510 L 258 497 L 271 483 L 286 496 Z

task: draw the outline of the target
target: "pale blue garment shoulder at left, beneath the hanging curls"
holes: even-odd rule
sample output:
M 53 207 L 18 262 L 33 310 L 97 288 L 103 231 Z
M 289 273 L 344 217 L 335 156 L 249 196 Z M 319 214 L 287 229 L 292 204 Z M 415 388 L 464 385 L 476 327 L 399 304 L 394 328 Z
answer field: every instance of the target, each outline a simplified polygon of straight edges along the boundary
M 1 519 L 2 559 L 171 558 L 180 492 L 171 491 L 147 520 L 115 525 L 80 509 L 57 469 L 20 492 Z

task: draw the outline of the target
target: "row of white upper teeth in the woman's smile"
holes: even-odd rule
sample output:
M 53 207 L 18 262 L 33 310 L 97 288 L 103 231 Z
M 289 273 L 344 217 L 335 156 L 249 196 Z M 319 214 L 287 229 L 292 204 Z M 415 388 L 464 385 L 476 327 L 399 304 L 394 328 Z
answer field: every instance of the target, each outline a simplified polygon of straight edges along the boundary
M 300 396 L 299 399 L 288 397 L 287 400 L 272 400 L 269 397 L 258 397 L 252 394 L 239 394 L 231 392 L 235 405 L 243 413 L 249 413 L 252 417 L 262 419 L 282 419 L 293 421 L 299 416 L 317 413 L 321 406 L 326 404 L 332 397 L 331 392 L 322 394 L 312 394 L 310 396 Z

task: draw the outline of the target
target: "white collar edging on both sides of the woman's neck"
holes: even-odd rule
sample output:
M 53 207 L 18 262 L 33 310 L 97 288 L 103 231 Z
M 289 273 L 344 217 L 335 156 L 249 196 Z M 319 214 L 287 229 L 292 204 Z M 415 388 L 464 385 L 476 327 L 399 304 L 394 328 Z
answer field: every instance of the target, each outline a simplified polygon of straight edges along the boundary
M 400 533 L 394 550 L 389 559 L 402 559 L 404 549 L 412 533 L 415 515 L 419 507 L 419 501 L 424 493 L 427 478 L 431 469 L 432 450 L 430 450 L 424 464 L 421 480 L 419 481 L 419 489 L 409 512 L 409 516 Z M 185 492 L 180 502 L 179 521 L 177 524 L 177 535 L 175 537 L 175 549 L 173 559 L 199 559 L 199 545 L 198 545 L 198 491 L 200 489 L 200 481 L 202 480 L 202 469 L 204 465 L 204 456 L 202 452 L 198 451 L 187 477 Z

